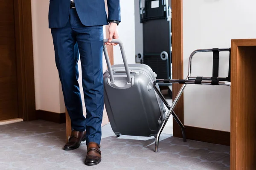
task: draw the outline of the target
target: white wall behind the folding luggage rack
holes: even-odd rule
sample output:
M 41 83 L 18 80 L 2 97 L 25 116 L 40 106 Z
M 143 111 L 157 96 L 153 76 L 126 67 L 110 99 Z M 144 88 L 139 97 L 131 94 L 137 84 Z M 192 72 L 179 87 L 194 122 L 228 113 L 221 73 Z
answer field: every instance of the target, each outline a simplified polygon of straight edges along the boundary
M 183 0 L 184 77 L 195 49 L 229 48 L 231 39 L 256 38 L 255 6 L 255 0 Z M 219 76 L 227 77 L 228 53 L 220 57 Z M 192 76 L 211 76 L 212 53 L 196 54 L 192 63 Z M 184 124 L 230 131 L 230 88 L 187 85 Z

